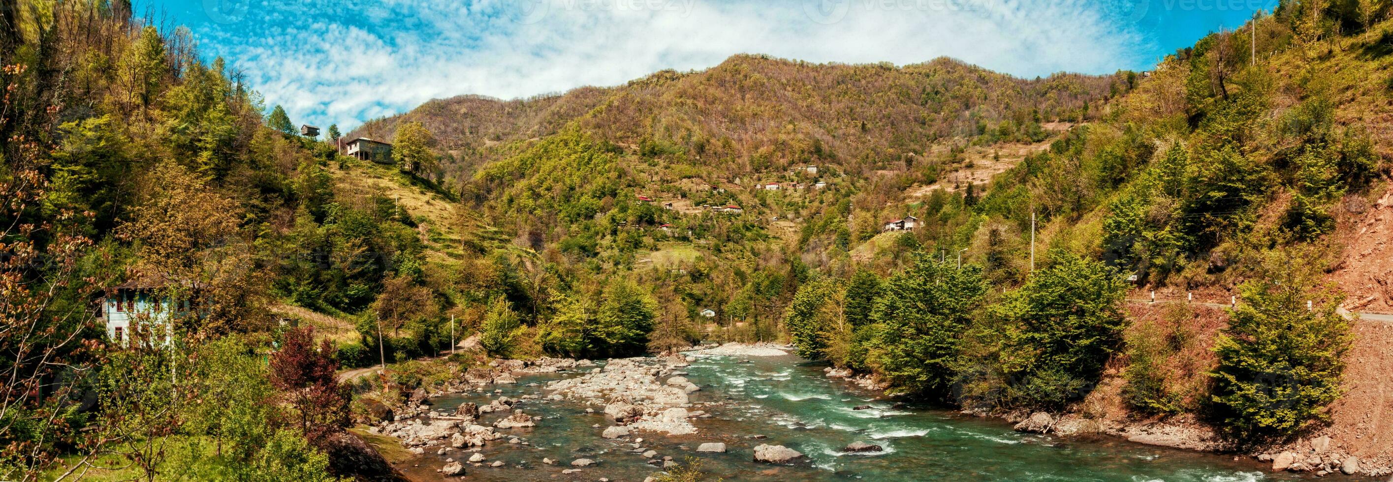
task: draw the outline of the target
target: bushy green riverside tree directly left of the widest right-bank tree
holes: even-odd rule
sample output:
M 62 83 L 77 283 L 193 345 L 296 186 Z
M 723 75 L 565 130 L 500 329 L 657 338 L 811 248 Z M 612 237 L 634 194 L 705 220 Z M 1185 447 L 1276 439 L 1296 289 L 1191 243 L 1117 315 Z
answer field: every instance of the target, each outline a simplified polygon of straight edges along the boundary
M 869 362 L 890 382 L 890 391 L 949 394 L 953 362 L 986 290 L 981 267 L 957 269 L 922 252 L 886 281 L 872 315 L 880 329 Z

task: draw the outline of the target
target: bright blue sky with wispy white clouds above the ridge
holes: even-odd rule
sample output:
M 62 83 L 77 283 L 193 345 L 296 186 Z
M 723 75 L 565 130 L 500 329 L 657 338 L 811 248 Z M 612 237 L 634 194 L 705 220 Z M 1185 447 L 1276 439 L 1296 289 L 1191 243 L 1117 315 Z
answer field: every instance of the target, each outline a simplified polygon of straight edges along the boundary
M 738 53 L 1017 77 L 1148 70 L 1277 0 L 137 0 L 185 25 L 297 124 L 343 131 L 430 100 L 618 85 Z

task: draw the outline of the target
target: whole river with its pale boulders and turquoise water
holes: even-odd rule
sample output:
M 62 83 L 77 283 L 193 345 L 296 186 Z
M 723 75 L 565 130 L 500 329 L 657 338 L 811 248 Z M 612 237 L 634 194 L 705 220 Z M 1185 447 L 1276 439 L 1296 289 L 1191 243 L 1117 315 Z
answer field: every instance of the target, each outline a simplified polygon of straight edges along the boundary
M 429 468 L 440 479 L 637 482 L 688 457 L 726 481 L 1289 476 L 1265 474 L 1252 460 L 1024 433 L 996 419 L 894 404 L 844 375 L 773 345 L 504 361 L 418 394 L 372 430 L 415 454 L 414 474 Z

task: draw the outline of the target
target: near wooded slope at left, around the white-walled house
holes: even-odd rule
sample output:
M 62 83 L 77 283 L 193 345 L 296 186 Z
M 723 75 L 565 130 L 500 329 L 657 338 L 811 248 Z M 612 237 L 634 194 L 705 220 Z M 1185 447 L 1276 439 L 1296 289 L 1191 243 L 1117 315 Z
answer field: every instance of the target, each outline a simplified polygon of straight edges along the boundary
M 397 205 L 336 191 L 334 149 L 269 128 L 187 29 L 0 11 L 0 478 L 393 479 L 344 430 L 334 347 L 269 308 L 361 309 L 411 273 Z

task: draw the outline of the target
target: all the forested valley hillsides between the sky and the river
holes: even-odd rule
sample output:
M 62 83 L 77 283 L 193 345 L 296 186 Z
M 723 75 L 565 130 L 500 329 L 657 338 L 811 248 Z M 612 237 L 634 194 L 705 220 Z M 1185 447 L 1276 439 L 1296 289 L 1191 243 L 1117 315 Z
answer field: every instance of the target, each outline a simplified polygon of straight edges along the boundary
M 1386 7 L 1284 1 L 1145 75 L 736 56 L 322 139 L 127 1 L 3 7 L 0 478 L 391 479 L 345 429 L 469 366 L 701 340 L 1393 469 L 1393 334 L 1346 316 L 1393 306 Z M 130 290 L 177 322 L 117 340 Z

